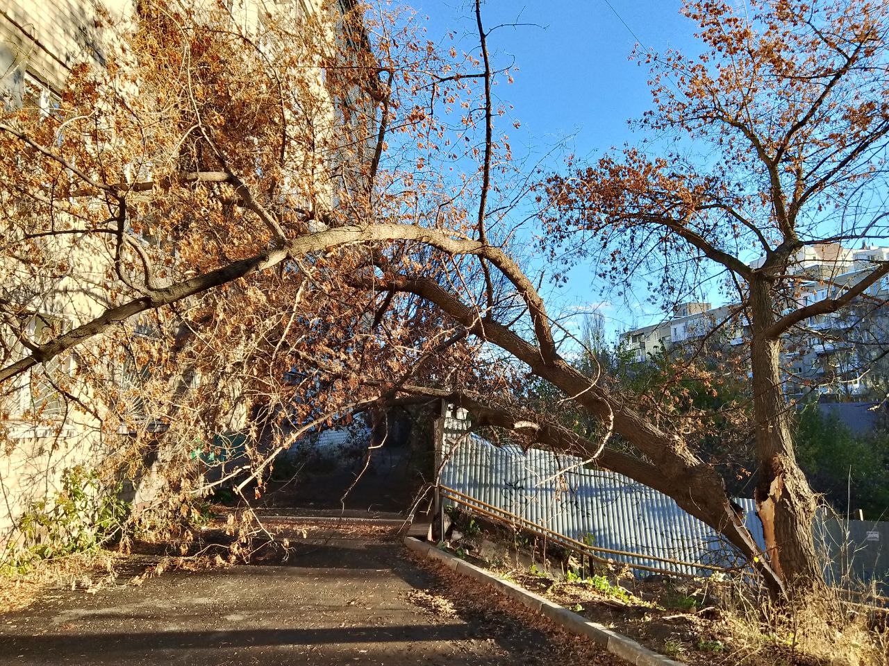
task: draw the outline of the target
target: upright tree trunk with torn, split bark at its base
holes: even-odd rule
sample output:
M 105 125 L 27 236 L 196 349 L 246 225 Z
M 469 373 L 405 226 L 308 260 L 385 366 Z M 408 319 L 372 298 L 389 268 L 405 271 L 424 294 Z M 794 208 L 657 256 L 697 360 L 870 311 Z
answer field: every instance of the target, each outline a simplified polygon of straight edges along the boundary
M 757 514 L 766 557 L 792 593 L 821 587 L 823 576 L 813 537 L 817 503 L 797 464 L 790 433 L 792 407 L 781 387 L 781 340 L 765 336 L 774 321 L 771 283 L 757 278 L 750 284 Z

